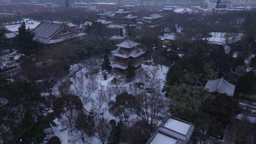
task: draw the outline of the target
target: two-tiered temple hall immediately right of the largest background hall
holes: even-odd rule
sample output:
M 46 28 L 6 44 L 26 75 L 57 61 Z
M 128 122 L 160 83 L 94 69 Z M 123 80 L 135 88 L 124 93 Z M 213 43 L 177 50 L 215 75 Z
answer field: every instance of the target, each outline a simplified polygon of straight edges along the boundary
M 153 13 L 148 16 L 145 16 L 142 19 L 143 25 L 142 27 L 145 28 L 155 28 L 159 27 L 163 24 L 163 16 L 159 15 L 158 13 Z

